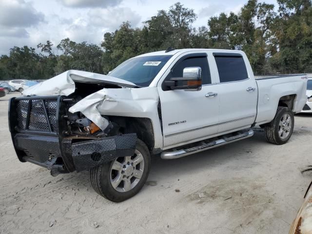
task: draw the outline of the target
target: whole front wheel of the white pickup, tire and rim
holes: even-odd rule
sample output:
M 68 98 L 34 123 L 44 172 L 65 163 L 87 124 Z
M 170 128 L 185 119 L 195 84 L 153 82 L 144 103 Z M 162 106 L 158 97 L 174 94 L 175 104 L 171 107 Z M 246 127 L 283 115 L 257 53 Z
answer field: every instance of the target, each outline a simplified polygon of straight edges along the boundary
M 144 142 L 137 139 L 134 156 L 118 157 L 91 168 L 91 184 L 99 195 L 115 202 L 124 201 L 141 190 L 150 167 L 150 152 Z

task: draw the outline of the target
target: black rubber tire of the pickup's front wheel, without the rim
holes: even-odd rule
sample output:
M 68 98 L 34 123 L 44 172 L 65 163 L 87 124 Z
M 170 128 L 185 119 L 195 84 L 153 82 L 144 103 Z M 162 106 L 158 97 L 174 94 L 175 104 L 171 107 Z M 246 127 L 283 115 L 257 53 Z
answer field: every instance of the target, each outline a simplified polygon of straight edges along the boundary
M 111 183 L 111 170 L 115 160 L 90 169 L 90 180 L 94 190 L 101 196 L 114 202 L 121 202 L 136 195 L 144 186 L 151 168 L 151 156 L 143 141 L 137 139 L 136 150 L 144 158 L 144 170 L 137 185 L 128 192 L 118 192 Z

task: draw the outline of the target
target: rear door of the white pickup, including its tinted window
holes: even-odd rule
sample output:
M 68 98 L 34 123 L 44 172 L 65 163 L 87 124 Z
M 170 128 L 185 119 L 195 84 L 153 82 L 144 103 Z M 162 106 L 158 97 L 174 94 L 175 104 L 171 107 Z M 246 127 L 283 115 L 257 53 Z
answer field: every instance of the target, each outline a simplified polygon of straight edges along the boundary
M 258 90 L 240 53 L 213 53 L 219 75 L 218 133 L 250 127 L 256 117 Z M 245 58 L 247 59 L 247 57 Z M 250 64 L 247 64 L 251 70 Z

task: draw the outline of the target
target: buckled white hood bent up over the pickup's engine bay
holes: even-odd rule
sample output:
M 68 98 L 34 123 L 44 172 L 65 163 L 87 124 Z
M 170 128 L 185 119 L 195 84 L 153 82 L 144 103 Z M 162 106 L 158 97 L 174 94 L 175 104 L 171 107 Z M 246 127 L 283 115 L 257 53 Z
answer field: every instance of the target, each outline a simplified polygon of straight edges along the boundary
M 75 92 L 75 82 L 112 84 L 126 87 L 137 87 L 136 84 L 98 73 L 69 70 L 56 77 L 45 80 L 22 92 L 23 96 L 68 96 Z

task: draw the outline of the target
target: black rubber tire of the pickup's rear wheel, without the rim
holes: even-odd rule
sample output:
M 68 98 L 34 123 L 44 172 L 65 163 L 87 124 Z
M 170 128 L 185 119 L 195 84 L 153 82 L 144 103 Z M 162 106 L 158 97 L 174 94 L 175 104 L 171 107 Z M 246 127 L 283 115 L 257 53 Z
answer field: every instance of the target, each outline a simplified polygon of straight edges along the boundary
M 282 117 L 285 115 L 289 115 L 291 117 L 291 126 L 289 126 L 289 134 L 286 137 L 281 137 L 279 134 L 281 128 L 279 123 L 281 122 Z M 264 127 L 267 141 L 276 145 L 285 144 L 292 136 L 293 126 L 294 117 L 292 111 L 290 111 L 287 107 L 279 106 L 273 120 L 270 123 L 266 124 Z

